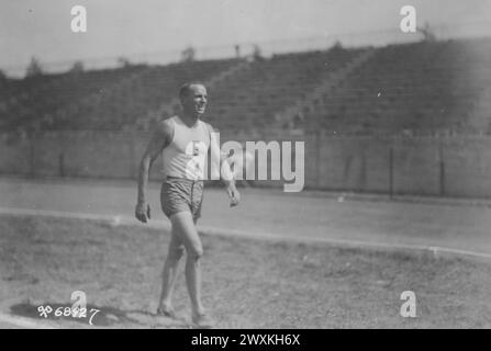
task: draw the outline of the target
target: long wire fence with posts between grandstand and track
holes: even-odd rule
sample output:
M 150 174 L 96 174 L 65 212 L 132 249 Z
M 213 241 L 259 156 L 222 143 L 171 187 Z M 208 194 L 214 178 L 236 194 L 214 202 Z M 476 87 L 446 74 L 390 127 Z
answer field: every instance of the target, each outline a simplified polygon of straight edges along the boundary
M 0 173 L 30 177 L 86 177 L 135 179 L 148 143 L 146 133 L 70 132 L 42 133 L 0 138 Z M 233 139 L 223 135 L 222 143 Z M 291 141 L 291 171 L 303 177 L 305 189 L 457 197 L 491 197 L 491 137 L 370 137 L 303 136 L 269 134 L 255 139 Z M 247 141 L 245 138 L 236 139 Z M 304 156 L 295 165 L 297 143 Z M 280 152 L 283 152 L 280 150 Z M 278 155 L 281 162 L 284 155 Z M 266 165 L 268 180 L 260 186 L 288 182 L 270 179 L 271 155 Z M 282 169 L 282 165 L 280 165 Z M 303 174 L 298 167 L 303 168 Z M 153 180 L 161 180 L 157 159 Z

